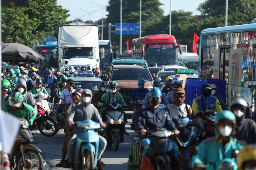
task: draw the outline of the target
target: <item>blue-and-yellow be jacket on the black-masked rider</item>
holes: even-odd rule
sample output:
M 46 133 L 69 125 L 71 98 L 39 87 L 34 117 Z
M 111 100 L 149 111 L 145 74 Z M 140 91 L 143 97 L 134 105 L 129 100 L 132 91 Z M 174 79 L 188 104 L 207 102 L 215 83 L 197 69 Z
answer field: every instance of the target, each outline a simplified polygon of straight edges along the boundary
M 204 107 L 201 97 L 203 97 Z M 213 95 L 210 95 L 209 97 L 205 97 L 204 95 L 195 97 L 193 100 L 192 109 L 195 112 L 195 114 L 204 111 L 211 113 L 214 113 L 215 110 L 217 113 L 222 111 L 219 100 Z

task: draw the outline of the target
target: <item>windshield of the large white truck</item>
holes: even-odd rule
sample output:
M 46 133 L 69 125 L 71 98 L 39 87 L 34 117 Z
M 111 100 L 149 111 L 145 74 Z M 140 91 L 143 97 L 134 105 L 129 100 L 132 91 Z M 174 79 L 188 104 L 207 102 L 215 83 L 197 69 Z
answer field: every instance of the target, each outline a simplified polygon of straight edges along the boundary
M 96 57 L 95 57 L 93 48 L 87 48 L 87 47 L 63 48 L 63 59 L 69 59 L 69 58 L 94 59 Z

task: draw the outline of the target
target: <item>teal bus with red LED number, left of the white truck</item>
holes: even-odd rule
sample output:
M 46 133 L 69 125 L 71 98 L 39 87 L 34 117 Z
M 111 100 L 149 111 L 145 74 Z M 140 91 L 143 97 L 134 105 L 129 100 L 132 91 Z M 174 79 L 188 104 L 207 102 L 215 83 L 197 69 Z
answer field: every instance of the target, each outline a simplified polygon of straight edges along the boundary
M 45 45 L 38 46 L 39 53 L 45 57 L 45 60 L 41 60 L 41 65 L 58 67 L 58 62 L 52 56 L 55 47 L 58 47 L 57 41 L 47 42 Z

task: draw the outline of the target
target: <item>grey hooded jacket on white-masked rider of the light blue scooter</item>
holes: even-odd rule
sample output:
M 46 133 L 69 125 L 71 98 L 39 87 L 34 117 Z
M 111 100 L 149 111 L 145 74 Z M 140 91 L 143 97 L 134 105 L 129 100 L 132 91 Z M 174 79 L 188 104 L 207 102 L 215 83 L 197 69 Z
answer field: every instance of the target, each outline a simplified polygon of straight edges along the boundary
M 84 89 L 82 94 L 86 93 L 92 96 L 91 90 Z M 88 103 L 83 102 L 80 105 L 77 105 L 73 107 L 71 112 L 68 115 L 68 122 L 77 122 L 77 121 L 83 121 L 83 120 L 92 120 L 94 122 L 102 124 L 102 119 L 100 117 L 100 114 L 96 107 L 91 105 L 91 101 Z M 73 127 L 73 133 L 78 133 L 79 129 L 74 126 Z

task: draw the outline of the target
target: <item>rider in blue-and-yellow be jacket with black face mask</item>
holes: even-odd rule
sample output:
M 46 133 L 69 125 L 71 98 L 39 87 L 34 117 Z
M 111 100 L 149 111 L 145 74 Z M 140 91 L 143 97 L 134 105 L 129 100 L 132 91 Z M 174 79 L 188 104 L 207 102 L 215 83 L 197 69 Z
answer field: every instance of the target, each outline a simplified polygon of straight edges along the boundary
M 195 97 L 192 103 L 192 109 L 195 112 L 196 116 L 200 117 L 202 114 L 206 112 L 221 112 L 222 109 L 219 100 L 217 99 L 217 97 L 211 95 L 211 85 L 209 83 L 204 83 L 201 89 L 202 95 Z M 201 119 L 198 120 L 199 123 L 201 124 L 201 128 L 194 128 L 196 137 L 198 137 L 200 130 L 204 131 L 204 122 L 200 121 Z

